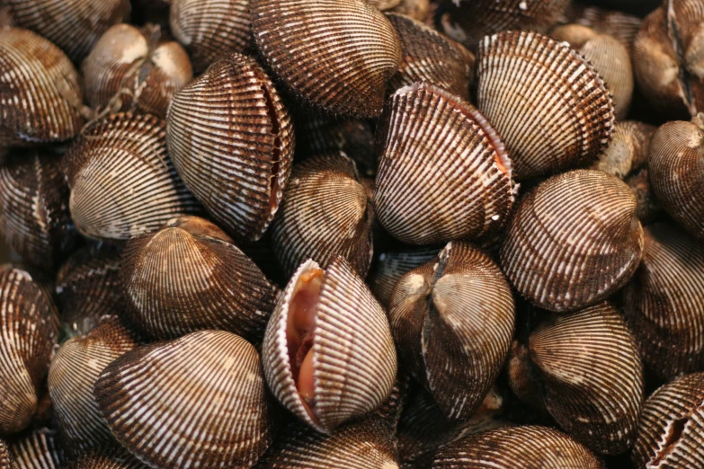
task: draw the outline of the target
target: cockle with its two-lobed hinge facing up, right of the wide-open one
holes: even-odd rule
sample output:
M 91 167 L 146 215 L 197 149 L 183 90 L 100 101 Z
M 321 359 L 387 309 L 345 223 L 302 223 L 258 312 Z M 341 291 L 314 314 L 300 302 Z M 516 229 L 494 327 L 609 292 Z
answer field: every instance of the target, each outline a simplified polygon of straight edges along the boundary
M 495 262 L 468 243 L 448 243 L 398 280 L 388 319 L 400 358 L 442 414 L 468 420 L 494 384 L 513 335 L 513 296 Z

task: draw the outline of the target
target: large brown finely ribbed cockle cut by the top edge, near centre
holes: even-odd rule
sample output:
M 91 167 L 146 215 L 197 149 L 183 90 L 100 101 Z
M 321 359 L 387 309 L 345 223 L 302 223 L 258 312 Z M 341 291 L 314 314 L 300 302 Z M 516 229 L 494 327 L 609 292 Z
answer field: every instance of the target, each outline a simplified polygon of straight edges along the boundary
M 379 10 L 364 0 L 250 0 L 250 13 L 260 55 L 299 101 L 379 116 L 403 54 Z

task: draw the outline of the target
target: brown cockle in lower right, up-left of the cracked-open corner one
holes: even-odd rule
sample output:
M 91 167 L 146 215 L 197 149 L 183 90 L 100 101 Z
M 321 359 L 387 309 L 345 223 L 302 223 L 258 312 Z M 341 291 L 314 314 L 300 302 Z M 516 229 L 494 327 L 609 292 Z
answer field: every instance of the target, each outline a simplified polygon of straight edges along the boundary
M 602 303 L 549 316 L 530 334 L 550 414 L 585 447 L 604 455 L 628 450 L 643 405 L 643 365 L 628 326 Z

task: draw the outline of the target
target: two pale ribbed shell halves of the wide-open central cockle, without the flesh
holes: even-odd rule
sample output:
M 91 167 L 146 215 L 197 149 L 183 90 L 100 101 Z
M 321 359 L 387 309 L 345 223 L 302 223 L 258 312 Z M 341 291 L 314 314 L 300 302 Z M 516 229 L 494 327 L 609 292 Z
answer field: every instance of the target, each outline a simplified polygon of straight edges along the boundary
M 346 420 L 373 411 L 387 398 L 396 379 L 397 355 L 384 309 L 352 268 L 335 258 L 325 270 L 316 307 L 316 424 L 293 380 L 286 327 L 299 276 L 317 268 L 315 261 L 306 261 L 290 279 L 267 325 L 262 360 L 266 382 L 276 398 L 308 425 L 329 433 Z

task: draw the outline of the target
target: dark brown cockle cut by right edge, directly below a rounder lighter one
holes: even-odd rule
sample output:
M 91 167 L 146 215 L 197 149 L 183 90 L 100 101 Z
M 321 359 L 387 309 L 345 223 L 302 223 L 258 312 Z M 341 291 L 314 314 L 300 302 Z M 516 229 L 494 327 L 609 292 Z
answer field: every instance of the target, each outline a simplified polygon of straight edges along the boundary
M 646 226 L 643 262 L 624 290 L 624 308 L 643 361 L 655 374 L 704 367 L 704 251 L 672 223 Z

